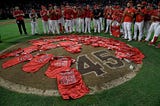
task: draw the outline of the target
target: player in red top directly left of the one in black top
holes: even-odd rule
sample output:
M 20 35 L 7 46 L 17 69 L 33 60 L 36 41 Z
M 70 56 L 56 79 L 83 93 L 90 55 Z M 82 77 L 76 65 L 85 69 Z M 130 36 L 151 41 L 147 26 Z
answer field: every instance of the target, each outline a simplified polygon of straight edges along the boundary
M 92 11 L 90 10 L 90 6 L 87 5 L 85 9 L 85 33 L 91 33 L 91 17 Z

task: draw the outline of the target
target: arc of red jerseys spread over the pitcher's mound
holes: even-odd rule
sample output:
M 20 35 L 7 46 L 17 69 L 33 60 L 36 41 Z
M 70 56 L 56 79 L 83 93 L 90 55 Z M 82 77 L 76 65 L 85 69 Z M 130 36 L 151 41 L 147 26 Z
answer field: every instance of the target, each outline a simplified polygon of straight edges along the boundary
M 19 48 L 0 55 L 0 59 L 14 57 L 2 64 L 2 68 L 8 68 L 13 65 L 29 61 L 23 65 L 25 72 L 37 72 L 41 67 L 50 62 L 45 75 L 49 78 L 56 78 L 58 89 L 63 99 L 77 99 L 89 92 L 89 89 L 82 81 L 81 74 L 75 68 L 70 68 L 74 59 L 71 57 L 58 56 L 53 54 L 32 55 L 32 52 L 47 51 L 57 47 L 63 47 L 70 53 L 81 52 L 82 44 L 93 47 L 104 47 L 114 50 L 115 56 L 120 59 L 128 59 L 137 64 L 141 64 L 144 55 L 135 47 L 128 46 L 126 43 L 112 39 L 95 36 L 67 35 L 56 37 L 42 37 L 36 40 L 30 40 L 30 47 Z M 76 89 L 76 90 L 75 90 Z M 77 91 L 77 92 L 75 92 Z

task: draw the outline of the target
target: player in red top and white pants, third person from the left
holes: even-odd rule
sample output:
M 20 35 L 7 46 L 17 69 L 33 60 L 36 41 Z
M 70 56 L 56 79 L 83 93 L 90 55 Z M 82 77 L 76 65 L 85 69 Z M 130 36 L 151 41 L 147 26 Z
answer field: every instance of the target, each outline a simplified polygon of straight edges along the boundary
M 49 23 L 48 23 L 48 15 L 47 15 L 47 9 L 45 6 L 41 6 L 40 16 L 42 18 L 42 25 L 43 25 L 43 32 L 44 34 L 49 34 Z

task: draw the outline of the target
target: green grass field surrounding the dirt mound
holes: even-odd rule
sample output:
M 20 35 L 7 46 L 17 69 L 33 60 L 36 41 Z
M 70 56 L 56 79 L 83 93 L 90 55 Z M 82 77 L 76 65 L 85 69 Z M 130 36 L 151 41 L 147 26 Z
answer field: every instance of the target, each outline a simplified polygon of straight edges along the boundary
M 26 26 L 28 33 L 31 32 L 30 23 Z M 41 22 L 39 26 L 42 32 Z M 42 36 L 20 36 L 16 24 L 0 25 L 0 35 L 3 41 L 0 50 Z M 93 35 L 108 36 L 104 33 Z M 120 86 L 77 100 L 20 94 L 0 87 L 0 106 L 160 106 L 160 49 L 143 42 L 132 41 L 129 44 L 139 48 L 145 59 L 137 76 Z

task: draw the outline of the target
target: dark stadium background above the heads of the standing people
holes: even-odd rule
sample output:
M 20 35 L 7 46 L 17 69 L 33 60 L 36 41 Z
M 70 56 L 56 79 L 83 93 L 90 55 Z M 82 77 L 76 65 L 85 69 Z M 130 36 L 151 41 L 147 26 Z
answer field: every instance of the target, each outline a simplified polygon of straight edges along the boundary
M 68 2 L 70 5 L 81 5 L 85 6 L 86 4 L 91 5 L 101 4 L 102 7 L 105 5 L 120 5 L 121 7 L 126 6 L 126 2 L 129 0 L 4 0 L 0 2 L 0 19 L 12 19 L 12 12 L 15 6 L 19 6 L 24 13 L 25 17 L 28 17 L 28 13 L 32 8 L 34 8 L 38 13 L 40 11 L 41 5 L 48 7 L 48 4 L 53 5 L 65 5 Z M 132 0 L 134 4 L 139 3 L 142 0 Z M 144 1 L 144 0 L 143 0 Z M 153 4 L 156 7 L 159 0 L 145 0 L 147 3 Z

